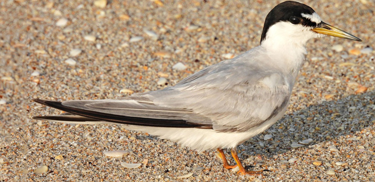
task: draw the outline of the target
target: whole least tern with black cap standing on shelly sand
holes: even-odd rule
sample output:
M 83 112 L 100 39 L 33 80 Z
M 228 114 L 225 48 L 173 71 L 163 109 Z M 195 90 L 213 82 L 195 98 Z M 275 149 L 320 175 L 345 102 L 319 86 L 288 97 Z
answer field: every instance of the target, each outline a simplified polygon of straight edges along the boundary
M 174 86 L 116 100 L 35 102 L 68 114 L 34 119 L 66 123 L 116 123 L 197 151 L 217 149 L 227 169 L 242 166 L 236 146 L 263 132 L 285 113 L 311 38 L 331 35 L 362 41 L 324 23 L 309 6 L 283 2 L 266 17 L 260 45 L 206 67 Z M 231 149 L 229 165 L 222 149 Z

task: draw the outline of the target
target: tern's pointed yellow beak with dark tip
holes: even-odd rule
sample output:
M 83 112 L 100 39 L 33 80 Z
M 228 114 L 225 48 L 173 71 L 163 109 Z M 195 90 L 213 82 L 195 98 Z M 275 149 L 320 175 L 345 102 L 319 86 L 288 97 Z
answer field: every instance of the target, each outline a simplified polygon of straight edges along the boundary
M 330 36 L 335 36 L 335 37 L 340 37 L 340 38 L 347 38 L 350 40 L 362 41 L 358 37 L 348 32 L 345 32 L 343 30 L 340 30 L 334 26 L 328 25 L 324 22 L 320 22 L 316 28 L 313 28 L 311 30 L 320 34 L 325 34 L 325 35 L 330 35 Z

